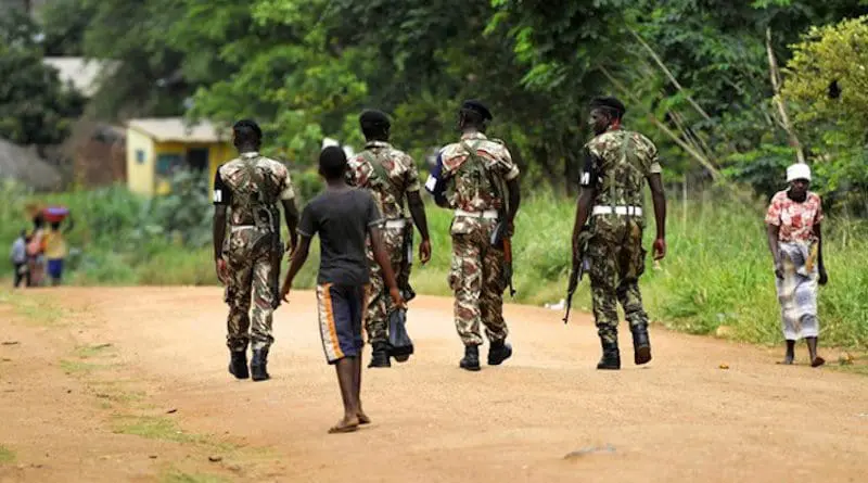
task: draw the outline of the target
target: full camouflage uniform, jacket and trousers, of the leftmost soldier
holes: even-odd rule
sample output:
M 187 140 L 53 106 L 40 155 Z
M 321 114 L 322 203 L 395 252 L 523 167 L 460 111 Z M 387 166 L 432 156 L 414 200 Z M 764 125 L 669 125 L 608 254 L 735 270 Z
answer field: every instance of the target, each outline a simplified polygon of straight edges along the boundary
M 214 203 L 230 208 L 230 232 L 224 242 L 229 267 L 225 301 L 230 307 L 226 344 L 230 351 L 246 351 L 250 342 L 254 351 L 267 351 L 275 341 L 271 317 L 278 304 L 283 253 L 277 203 L 294 196 L 289 169 L 258 153 L 243 153 L 217 170 Z

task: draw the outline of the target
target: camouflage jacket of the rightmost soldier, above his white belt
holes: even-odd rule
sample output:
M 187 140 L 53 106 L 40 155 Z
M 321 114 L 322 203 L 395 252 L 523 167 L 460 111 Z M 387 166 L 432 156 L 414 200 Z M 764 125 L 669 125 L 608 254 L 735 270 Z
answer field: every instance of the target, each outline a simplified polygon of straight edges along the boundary
M 585 144 L 580 186 L 595 188 L 595 205 L 642 206 L 646 178 L 660 173 L 651 140 L 623 129 L 609 130 Z

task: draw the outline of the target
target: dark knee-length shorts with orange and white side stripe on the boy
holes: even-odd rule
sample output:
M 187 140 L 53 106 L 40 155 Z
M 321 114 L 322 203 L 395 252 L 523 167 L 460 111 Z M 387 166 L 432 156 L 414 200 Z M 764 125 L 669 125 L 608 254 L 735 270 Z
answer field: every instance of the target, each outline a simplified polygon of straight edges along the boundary
M 344 357 L 360 357 L 365 346 L 362 326 L 368 285 L 317 287 L 319 333 L 329 364 Z

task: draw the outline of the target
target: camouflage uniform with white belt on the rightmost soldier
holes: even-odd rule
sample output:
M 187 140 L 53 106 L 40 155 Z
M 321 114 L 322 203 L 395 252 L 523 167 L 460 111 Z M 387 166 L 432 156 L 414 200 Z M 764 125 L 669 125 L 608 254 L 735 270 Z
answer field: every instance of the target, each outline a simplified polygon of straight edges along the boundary
M 597 191 L 585 252 L 590 260 L 593 317 L 600 339 L 614 344 L 617 302 L 624 307 L 630 330 L 648 327 L 639 292 L 647 253 L 642 247 L 644 213 L 630 207 L 643 206 L 646 177 L 661 168 L 656 148 L 638 132 L 610 130 L 585 149 L 580 185 Z

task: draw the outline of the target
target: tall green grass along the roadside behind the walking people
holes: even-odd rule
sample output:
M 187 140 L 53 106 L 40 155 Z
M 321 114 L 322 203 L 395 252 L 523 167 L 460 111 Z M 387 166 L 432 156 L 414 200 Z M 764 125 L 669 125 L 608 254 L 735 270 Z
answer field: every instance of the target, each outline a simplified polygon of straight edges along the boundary
M 146 202 L 119 188 L 98 194 L 73 192 L 47 198 L 67 204 L 77 214 L 77 226 L 69 240 L 84 249 L 85 255 L 71 263 L 67 283 L 218 283 L 207 243 L 191 249 L 166 237 L 151 236 L 158 229 L 148 225 L 150 218 L 140 216 Z M 710 334 L 727 326 L 737 340 L 781 343 L 779 307 L 763 225 L 765 202 L 716 191 L 700 193 L 687 203 L 676 198 L 669 195 L 668 256 L 661 269 L 654 270 L 649 255 L 640 282 L 650 317 L 689 333 Z M 14 230 L 10 227 L 22 224 L 20 208 L 26 200 L 0 206 L 0 242 L 11 243 Z M 651 203 L 647 206 L 650 212 Z M 201 216 L 210 216 L 209 208 Z M 542 305 L 565 296 L 574 216 L 574 200 L 541 191 L 524 196 L 513 239 L 518 293 L 514 300 L 507 295 L 507 302 Z M 427 266 L 414 263 L 411 282 L 420 293 L 450 295 L 446 279 L 451 214 L 430 204 L 427 218 L 433 257 Z M 865 220 L 834 217 L 824 225 L 830 283 L 821 288 L 819 295 L 822 344 L 868 348 L 868 298 L 864 296 L 868 293 L 868 226 Z M 649 219 L 644 233 L 647 249 L 653 236 L 653 220 Z M 418 249 L 418 233 L 416 241 Z M 310 258 L 296 278 L 296 289 L 314 287 L 318 260 L 315 240 Z M 281 268 L 285 274 L 285 259 Z M 9 294 L 0 296 L 3 297 L 0 301 L 17 298 Z M 62 317 L 53 308 L 15 303 L 20 312 L 42 320 Z M 590 308 L 587 278 L 582 281 L 573 306 L 578 310 Z

